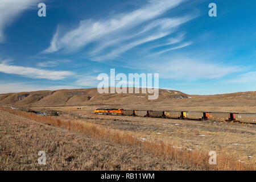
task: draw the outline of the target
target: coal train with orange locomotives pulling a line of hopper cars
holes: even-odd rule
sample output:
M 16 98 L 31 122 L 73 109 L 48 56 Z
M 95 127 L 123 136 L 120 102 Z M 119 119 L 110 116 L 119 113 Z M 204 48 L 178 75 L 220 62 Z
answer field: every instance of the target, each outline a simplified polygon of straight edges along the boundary
M 130 115 L 138 117 L 197 119 L 213 121 L 234 121 L 241 123 L 256 123 L 255 113 L 222 113 L 205 111 L 154 111 L 154 110 L 124 110 L 124 109 L 96 109 L 95 114 Z

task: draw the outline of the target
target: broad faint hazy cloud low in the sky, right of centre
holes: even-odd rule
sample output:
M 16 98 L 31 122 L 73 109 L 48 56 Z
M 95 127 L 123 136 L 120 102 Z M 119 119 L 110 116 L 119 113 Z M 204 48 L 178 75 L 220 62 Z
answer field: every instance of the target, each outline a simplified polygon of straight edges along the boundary
M 158 61 L 156 61 L 158 60 Z M 191 59 L 185 56 L 155 56 L 150 59 L 130 61 L 129 68 L 143 68 L 153 73 L 159 73 L 159 78 L 193 81 L 200 79 L 221 78 L 237 70 L 246 68 L 220 62 Z

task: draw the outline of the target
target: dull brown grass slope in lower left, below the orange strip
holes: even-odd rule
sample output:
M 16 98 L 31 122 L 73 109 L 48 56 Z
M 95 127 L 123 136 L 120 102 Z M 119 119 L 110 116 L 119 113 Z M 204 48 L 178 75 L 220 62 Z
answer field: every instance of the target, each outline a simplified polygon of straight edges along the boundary
M 95 138 L 0 111 L 0 170 L 184 170 L 141 147 Z M 46 165 L 38 152 L 46 152 Z

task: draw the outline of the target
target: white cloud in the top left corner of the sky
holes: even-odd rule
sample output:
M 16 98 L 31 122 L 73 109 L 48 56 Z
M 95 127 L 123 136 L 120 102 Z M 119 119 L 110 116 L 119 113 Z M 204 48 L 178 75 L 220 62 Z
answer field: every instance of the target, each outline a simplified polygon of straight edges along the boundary
M 39 0 L 1 0 L 0 1 L 0 42 L 5 40 L 3 31 L 24 10 L 29 9 Z M 36 6 L 35 6 L 36 7 Z

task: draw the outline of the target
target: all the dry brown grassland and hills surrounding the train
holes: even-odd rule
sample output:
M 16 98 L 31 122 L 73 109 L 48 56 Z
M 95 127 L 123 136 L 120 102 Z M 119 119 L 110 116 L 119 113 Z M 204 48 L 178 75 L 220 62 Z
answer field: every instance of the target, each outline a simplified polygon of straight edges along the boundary
M 147 94 L 75 89 L 2 94 L 0 105 L 2 170 L 256 169 L 256 125 L 93 114 L 97 107 L 256 113 L 256 92 L 190 96 L 161 89 L 150 101 Z M 37 163 L 40 150 L 46 166 Z M 209 151 L 217 152 L 217 165 L 209 165 Z

